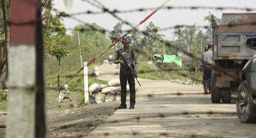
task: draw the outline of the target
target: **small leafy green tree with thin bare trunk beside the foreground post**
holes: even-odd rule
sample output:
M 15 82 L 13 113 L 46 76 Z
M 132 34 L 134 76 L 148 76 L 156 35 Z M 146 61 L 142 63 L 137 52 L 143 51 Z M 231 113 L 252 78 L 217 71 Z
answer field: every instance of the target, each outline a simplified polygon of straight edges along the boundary
M 56 57 L 57 61 L 59 61 L 58 86 L 60 86 L 61 58 L 71 53 L 68 49 L 71 39 L 66 34 L 64 24 L 61 23 L 63 19 L 59 17 L 59 14 L 65 15 L 65 12 L 59 12 L 59 14 L 57 14 L 55 10 L 54 12 L 56 16 L 53 17 L 53 15 L 50 14 L 50 20 L 48 20 L 46 12 L 42 17 L 44 26 L 44 47 L 50 55 L 53 55 Z

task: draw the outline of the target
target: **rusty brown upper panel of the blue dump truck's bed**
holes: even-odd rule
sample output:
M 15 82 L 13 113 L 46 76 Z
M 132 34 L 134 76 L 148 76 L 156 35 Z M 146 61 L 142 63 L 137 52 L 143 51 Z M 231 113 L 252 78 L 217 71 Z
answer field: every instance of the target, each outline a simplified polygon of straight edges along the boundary
M 256 13 L 223 13 L 219 31 L 256 31 Z

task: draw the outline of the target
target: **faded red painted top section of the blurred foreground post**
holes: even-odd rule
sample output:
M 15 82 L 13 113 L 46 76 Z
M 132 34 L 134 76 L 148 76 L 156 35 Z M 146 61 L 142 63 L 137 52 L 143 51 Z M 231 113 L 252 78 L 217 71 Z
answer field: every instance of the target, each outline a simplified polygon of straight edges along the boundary
M 35 22 L 37 0 L 12 0 L 11 45 L 35 45 Z M 29 8 L 28 8 L 29 7 Z

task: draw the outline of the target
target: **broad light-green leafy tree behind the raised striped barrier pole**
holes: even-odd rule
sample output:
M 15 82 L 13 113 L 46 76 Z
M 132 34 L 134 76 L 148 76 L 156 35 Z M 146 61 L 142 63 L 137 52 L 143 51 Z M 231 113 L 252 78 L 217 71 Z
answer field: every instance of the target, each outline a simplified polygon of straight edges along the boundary
M 78 30 L 83 61 L 89 62 L 111 44 L 105 34 L 101 32 L 101 28 L 103 29 L 103 27 L 100 27 L 95 23 L 78 24 L 74 27 L 74 30 L 71 32 L 71 45 L 69 45 L 69 50 L 72 52 L 72 55 L 68 55 L 68 57 L 62 60 L 61 72 L 69 74 L 81 68 Z M 116 49 L 109 49 L 95 61 L 99 63 L 101 62 L 101 59 L 107 60 L 109 54 L 114 54 L 115 51 Z M 57 62 L 54 59 L 47 59 L 47 61 L 51 62 L 49 64 Z M 48 73 L 53 72 L 54 70 L 57 70 L 57 68 L 54 68 L 53 70 L 47 68 Z

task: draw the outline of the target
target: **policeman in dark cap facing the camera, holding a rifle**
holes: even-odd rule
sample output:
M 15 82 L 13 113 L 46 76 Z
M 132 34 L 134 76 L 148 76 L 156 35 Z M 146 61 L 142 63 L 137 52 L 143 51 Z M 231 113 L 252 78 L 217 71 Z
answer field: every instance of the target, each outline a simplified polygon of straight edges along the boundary
M 134 109 L 135 105 L 135 80 L 133 74 L 136 73 L 139 68 L 138 54 L 134 50 L 129 49 L 131 44 L 131 39 L 129 37 L 124 37 L 122 39 L 124 48 L 120 49 L 124 57 L 127 58 L 129 64 L 131 64 L 134 72 L 131 72 L 128 65 L 125 65 L 124 59 L 116 53 L 114 58 L 114 64 L 120 63 L 120 83 L 121 83 L 121 105 L 116 107 L 116 109 L 126 109 L 126 85 L 127 81 L 130 88 L 130 107 L 129 109 Z M 133 61 L 135 65 L 133 64 Z

